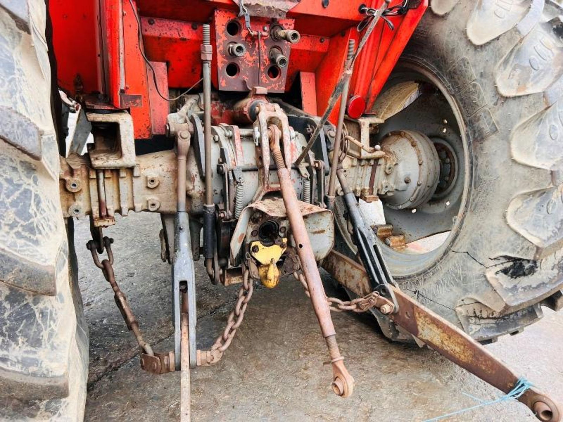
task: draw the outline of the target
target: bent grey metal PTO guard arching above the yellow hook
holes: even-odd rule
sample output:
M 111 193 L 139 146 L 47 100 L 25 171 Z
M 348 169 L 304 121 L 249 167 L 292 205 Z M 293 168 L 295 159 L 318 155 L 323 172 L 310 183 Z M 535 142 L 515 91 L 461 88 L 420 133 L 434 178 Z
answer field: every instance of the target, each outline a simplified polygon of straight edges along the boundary
M 334 246 L 334 216 L 328 209 L 302 201 L 299 201 L 299 208 L 311 240 L 313 254 L 316 261 L 320 261 L 328 255 Z M 257 212 L 267 216 L 266 219 L 278 223 L 280 230 L 289 231 L 289 222 L 281 198 L 264 199 L 249 204 L 240 214 L 231 239 L 231 263 L 236 261 L 244 240 L 255 237 L 252 236 L 252 232 L 258 230 L 263 221 L 262 218 L 258 223 L 252 221 L 252 216 Z

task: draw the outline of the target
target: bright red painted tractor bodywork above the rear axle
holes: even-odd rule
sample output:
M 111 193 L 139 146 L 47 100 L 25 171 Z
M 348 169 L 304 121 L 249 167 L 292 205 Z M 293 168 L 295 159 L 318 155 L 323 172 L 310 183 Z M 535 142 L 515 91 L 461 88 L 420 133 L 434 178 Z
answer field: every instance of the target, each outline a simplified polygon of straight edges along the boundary
M 343 68 L 348 39 L 358 42 L 356 26 L 365 17 L 359 12 L 361 2 L 274 3 L 286 3 L 287 14 L 251 16 L 252 30 L 279 24 L 301 34 L 295 44 L 279 44 L 287 52 L 289 64 L 278 75 L 269 74 L 266 60 L 274 40 L 266 37 L 258 43 L 249 41 L 244 17 L 238 17 L 239 7 L 232 0 L 51 0 L 59 86 L 82 97 L 91 109 L 128 109 L 137 139 L 163 134 L 169 103 L 158 95 L 141 48 L 157 73 L 159 91 L 166 96 L 168 88 L 185 89 L 201 78 L 202 24 L 211 23 L 212 80 L 218 91 L 249 91 L 261 86 L 269 93 L 283 93 L 293 88 L 300 93 L 303 110 L 323 114 Z M 381 3 L 370 0 L 367 6 L 379 7 Z M 394 0 L 391 6 L 398 3 L 401 0 Z M 361 99 L 365 101 L 364 113 L 373 113 L 375 98 L 428 6 L 428 0 L 410 3 L 417 3 L 417 7 L 404 15 L 388 17 L 394 29 L 379 21 L 356 61 L 349 97 L 356 97 L 356 113 L 358 105 L 359 111 L 363 108 Z M 141 20 L 142 46 L 132 5 Z M 240 29 L 234 37 L 225 32 L 231 21 L 238 21 Z M 230 38 L 248 41 L 244 57 L 226 56 L 224 47 Z M 237 69 L 234 76 L 226 73 L 231 62 L 235 65 L 231 70 Z M 338 105 L 331 116 L 333 122 L 337 110 Z M 228 116 L 222 118 L 228 123 L 225 119 Z

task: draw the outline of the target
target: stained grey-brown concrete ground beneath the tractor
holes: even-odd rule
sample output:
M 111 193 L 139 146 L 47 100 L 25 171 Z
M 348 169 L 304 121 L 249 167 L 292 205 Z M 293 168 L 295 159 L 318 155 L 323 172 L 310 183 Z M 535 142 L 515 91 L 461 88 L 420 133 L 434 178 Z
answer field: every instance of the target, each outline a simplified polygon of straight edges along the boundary
M 157 351 L 172 349 L 170 267 L 160 261 L 155 214 L 119 218 L 114 237 L 115 275 L 141 330 Z M 178 374 L 140 369 L 135 340 L 126 329 L 109 284 L 84 248 L 88 222 L 78 222 L 76 246 L 84 311 L 90 324 L 90 380 L 86 421 L 173 421 L 180 413 Z M 237 286 L 213 286 L 201 262 L 198 346 L 208 348 L 231 311 Z M 324 273 L 327 285 L 330 277 Z M 487 346 L 517 374 L 563 403 L 563 313 L 545 309 L 524 333 Z M 216 366 L 191 372 L 194 421 L 423 421 L 501 396 L 475 376 L 424 348 L 392 344 L 369 317 L 333 314 L 352 397 L 330 389 L 330 366 L 309 299 L 293 279 L 273 290 L 256 289 L 244 322 Z M 449 421 L 534 421 L 520 403 L 479 408 Z

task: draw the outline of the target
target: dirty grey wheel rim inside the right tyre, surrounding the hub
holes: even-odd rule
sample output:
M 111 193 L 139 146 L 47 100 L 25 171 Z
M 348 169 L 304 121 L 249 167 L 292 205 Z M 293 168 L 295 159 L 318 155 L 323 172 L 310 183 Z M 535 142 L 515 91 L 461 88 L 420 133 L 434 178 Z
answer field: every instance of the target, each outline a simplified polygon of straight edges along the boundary
M 393 249 L 378 240 L 392 275 L 401 279 L 427 272 L 451 250 L 468 203 L 471 149 L 461 112 L 441 80 L 411 62 L 401 62 L 397 68 L 374 106 L 382 110 L 385 123 L 372 142 L 380 142 L 393 131 L 418 131 L 434 143 L 440 159 L 439 183 L 426 204 L 397 210 L 386 206 L 382 198 L 386 223 L 393 226 L 393 234 L 405 235 L 408 246 Z M 339 216 L 344 213 L 339 204 L 337 224 L 355 251 L 348 231 L 342 231 L 346 223 Z

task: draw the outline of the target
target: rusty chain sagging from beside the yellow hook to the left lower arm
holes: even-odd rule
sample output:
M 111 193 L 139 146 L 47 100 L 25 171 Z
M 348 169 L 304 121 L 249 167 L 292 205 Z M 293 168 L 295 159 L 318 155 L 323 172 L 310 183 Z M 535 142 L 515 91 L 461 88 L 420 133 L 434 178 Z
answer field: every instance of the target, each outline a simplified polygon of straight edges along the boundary
M 243 272 L 243 283 L 239 289 L 235 308 L 227 319 L 227 326 L 225 327 L 223 334 L 217 337 L 217 340 L 215 340 L 211 349 L 208 351 L 197 351 L 196 358 L 198 366 L 213 365 L 221 359 L 223 353 L 233 341 L 236 330 L 243 322 L 244 312 L 247 309 L 248 301 L 252 298 L 253 290 L 252 279 L 249 277 L 248 268 L 245 268 Z

